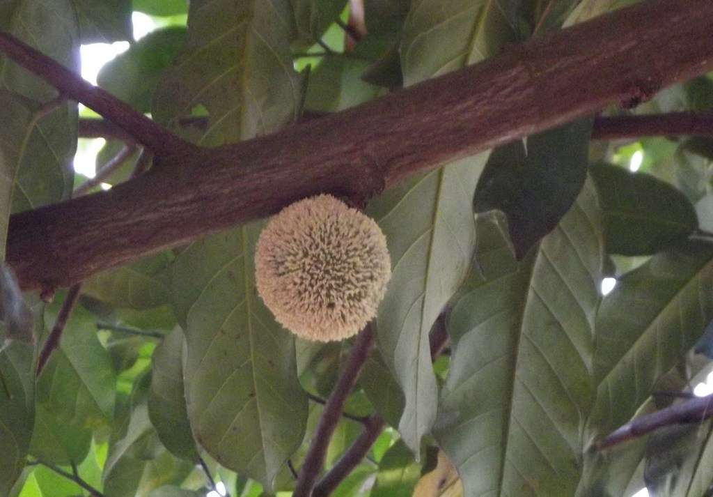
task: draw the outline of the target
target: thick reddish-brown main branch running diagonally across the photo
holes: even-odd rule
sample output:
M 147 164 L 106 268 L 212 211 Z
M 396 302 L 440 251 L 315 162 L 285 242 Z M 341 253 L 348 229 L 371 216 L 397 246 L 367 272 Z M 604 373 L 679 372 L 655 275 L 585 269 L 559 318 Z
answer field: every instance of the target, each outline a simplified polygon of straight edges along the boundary
M 645 1 L 354 109 L 178 154 L 111 191 L 16 214 L 7 260 L 26 290 L 68 286 L 306 196 L 367 199 L 407 176 L 709 71 L 712 31 L 710 0 Z M 83 93 L 71 96 L 86 104 Z M 132 121 L 116 124 L 136 134 Z

